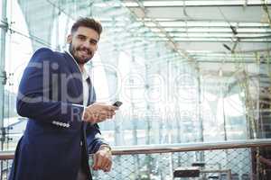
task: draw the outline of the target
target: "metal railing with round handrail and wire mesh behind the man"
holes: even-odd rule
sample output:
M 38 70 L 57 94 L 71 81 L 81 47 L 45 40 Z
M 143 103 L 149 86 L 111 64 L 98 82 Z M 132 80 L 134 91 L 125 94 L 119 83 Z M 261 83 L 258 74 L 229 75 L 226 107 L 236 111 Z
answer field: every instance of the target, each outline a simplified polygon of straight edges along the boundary
M 259 148 L 271 147 L 271 139 L 231 140 L 183 144 L 113 147 L 113 167 L 109 173 L 92 172 L 94 179 L 168 180 L 178 167 L 200 164 L 198 177 L 182 179 L 259 179 Z M 1 180 L 6 178 L 14 152 L 0 153 Z M 89 163 L 92 160 L 89 159 Z

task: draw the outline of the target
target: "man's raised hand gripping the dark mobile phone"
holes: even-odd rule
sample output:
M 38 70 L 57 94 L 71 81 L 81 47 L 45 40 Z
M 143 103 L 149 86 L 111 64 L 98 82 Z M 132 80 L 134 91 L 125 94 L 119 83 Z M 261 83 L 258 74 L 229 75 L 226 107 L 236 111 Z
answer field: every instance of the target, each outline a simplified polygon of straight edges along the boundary
M 88 121 L 90 123 L 97 123 L 100 121 L 105 121 L 111 119 L 118 108 L 114 105 L 107 105 L 105 103 L 92 103 L 85 108 L 83 114 L 83 121 Z

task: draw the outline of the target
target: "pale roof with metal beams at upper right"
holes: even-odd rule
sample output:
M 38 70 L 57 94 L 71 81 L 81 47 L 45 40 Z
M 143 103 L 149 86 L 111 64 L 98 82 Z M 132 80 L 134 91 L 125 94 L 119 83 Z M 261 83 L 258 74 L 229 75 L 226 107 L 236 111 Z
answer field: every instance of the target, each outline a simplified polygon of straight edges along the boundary
M 255 52 L 270 50 L 270 3 L 123 1 L 160 40 L 173 42 L 176 50 L 187 52 L 204 69 L 207 63 L 212 63 L 208 67 L 214 63 L 253 63 L 257 61 Z M 225 71 L 234 71 L 234 66 Z

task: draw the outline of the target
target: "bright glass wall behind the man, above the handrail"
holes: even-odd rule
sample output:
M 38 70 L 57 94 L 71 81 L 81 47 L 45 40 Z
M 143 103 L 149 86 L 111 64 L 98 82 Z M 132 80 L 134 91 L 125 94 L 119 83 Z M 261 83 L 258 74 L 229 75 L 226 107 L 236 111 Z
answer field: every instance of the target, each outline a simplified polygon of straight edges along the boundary
M 1 39 L 6 84 L 0 102 L 4 106 L 4 150 L 15 148 L 26 125 L 15 111 L 23 68 L 36 49 L 65 50 L 70 26 L 79 16 L 94 17 L 104 27 L 98 53 L 88 65 L 98 101 L 124 103 L 113 120 L 100 123 L 104 138 L 112 145 L 257 138 L 258 115 L 250 110 L 257 108 L 251 101 L 258 94 L 250 94 L 248 87 L 259 85 L 246 72 L 248 68 L 259 72 L 258 63 L 237 61 L 232 76 L 223 75 L 220 69 L 218 76 L 202 72 L 199 62 L 161 41 L 161 35 L 151 31 L 144 19 L 117 0 L 6 3 L 8 30 L 5 40 Z

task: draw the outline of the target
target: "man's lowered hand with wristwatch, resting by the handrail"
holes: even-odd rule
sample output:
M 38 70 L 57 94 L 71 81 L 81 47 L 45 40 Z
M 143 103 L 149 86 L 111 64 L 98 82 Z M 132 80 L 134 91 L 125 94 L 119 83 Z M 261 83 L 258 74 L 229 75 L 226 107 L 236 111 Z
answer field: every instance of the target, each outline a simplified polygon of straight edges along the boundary
M 101 145 L 93 156 L 93 170 L 103 170 L 109 172 L 112 166 L 111 148 L 107 145 Z

